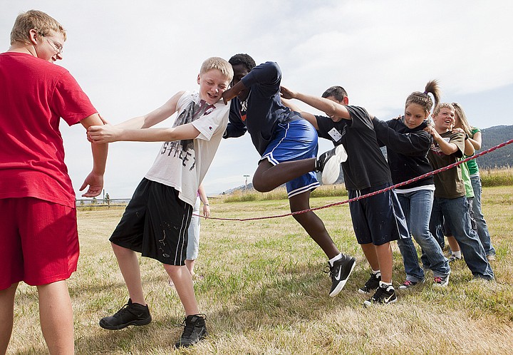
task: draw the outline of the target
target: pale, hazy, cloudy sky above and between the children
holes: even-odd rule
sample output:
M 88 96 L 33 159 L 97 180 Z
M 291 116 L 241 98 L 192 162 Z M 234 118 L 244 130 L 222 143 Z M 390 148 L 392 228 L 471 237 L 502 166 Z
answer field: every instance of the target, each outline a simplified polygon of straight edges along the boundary
M 350 104 L 383 120 L 403 113 L 406 97 L 437 79 L 442 101 L 460 103 L 472 125 L 512 124 L 509 0 L 1 0 L 1 9 L 2 52 L 22 11 L 45 11 L 63 25 L 68 40 L 58 65 L 113 124 L 150 112 L 178 91 L 197 90 L 205 58 L 236 53 L 257 64 L 276 61 L 282 84 L 295 91 L 320 96 L 341 85 Z M 81 198 L 78 188 L 92 167 L 90 143 L 80 124 L 61 121 L 61 131 Z M 110 144 L 104 185 L 110 198 L 131 197 L 160 145 Z M 319 153 L 331 147 L 319 140 Z M 222 140 L 204 178 L 207 194 L 244 185 L 244 175 L 251 181 L 258 160 L 249 135 Z

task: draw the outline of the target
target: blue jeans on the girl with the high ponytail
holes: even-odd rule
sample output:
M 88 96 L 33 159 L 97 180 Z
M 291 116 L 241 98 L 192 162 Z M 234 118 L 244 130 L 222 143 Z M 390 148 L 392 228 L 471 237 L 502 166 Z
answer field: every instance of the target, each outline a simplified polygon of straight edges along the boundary
M 418 190 L 397 195 L 406 217 L 408 230 L 415 242 L 423 249 L 424 266 L 432 269 L 434 277 L 446 277 L 450 273 L 449 261 L 444 257 L 442 248 L 429 230 L 433 193 L 432 190 Z M 417 249 L 411 238 L 398 240 L 398 247 L 403 255 L 406 279 L 422 282 L 424 270 L 419 265 Z

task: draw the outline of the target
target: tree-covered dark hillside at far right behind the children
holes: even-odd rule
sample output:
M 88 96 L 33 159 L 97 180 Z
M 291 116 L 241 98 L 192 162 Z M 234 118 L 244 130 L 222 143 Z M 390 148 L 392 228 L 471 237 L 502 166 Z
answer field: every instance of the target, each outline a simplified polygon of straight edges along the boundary
M 513 139 L 513 125 L 496 125 L 481 130 L 482 147 L 480 151 L 495 147 Z M 479 153 L 479 151 L 478 151 Z M 477 158 L 480 168 L 513 167 L 513 143 Z

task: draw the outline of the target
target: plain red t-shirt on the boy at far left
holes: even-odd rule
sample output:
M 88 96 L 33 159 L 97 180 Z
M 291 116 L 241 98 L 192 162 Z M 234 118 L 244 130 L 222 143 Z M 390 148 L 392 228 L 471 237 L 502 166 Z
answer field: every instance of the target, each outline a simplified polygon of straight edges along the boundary
M 26 53 L 1 53 L 0 198 L 75 207 L 59 123 L 62 117 L 73 125 L 97 112 L 65 68 Z

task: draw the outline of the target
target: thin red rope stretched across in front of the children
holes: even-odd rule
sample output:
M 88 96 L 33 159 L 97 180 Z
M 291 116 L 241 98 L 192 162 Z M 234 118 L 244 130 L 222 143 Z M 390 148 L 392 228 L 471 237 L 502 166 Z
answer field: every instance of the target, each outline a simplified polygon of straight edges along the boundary
M 323 208 L 343 205 L 343 204 L 346 204 L 346 203 L 349 203 L 349 202 L 353 202 L 353 201 L 357 201 L 357 200 L 362 200 L 363 198 L 367 198 L 367 197 L 371 197 L 371 196 L 374 196 L 374 195 L 378 195 L 378 194 L 380 194 L 382 192 L 385 192 L 385 191 L 388 191 L 388 190 L 392 190 L 395 187 L 401 187 L 401 186 L 404 186 L 404 185 L 408 185 L 408 184 L 410 184 L 412 182 L 415 182 L 415 181 L 427 178 L 428 176 L 435 175 L 435 174 L 440 173 L 442 171 L 452 169 L 452 168 L 454 168 L 457 165 L 460 165 L 460 164 L 465 163 L 465 162 L 467 162 L 469 160 L 472 160 L 472 159 L 475 159 L 477 157 L 480 157 L 481 155 L 493 152 L 494 150 L 502 148 L 505 145 L 508 145 L 508 144 L 511 144 L 511 143 L 513 143 L 513 139 L 507 140 L 507 142 L 501 143 L 501 144 L 496 145 L 496 146 L 494 146 L 492 148 L 489 148 L 487 150 L 483 150 L 482 152 L 477 153 L 475 155 L 472 155 L 471 157 L 465 158 L 463 160 L 459 160 L 456 163 L 452 163 L 452 164 L 447 165 L 447 166 L 445 166 L 443 168 L 440 168 L 440 169 L 437 169 L 437 170 L 433 170 L 430 173 L 425 173 L 423 175 L 420 175 L 417 178 L 413 178 L 413 179 L 410 179 L 410 180 L 407 180 L 407 181 L 399 182 L 398 184 L 395 184 L 393 186 L 389 186 L 389 187 L 386 187 L 384 189 L 368 193 L 367 195 L 361 195 L 361 196 L 358 196 L 358 197 L 354 197 L 354 198 L 351 198 L 350 200 L 330 203 L 329 205 L 324 205 L 324 206 L 321 206 L 321 207 L 310 208 L 309 210 L 290 212 L 290 213 L 286 213 L 284 215 L 274 215 L 274 216 L 267 216 L 267 217 L 253 217 L 253 218 L 218 218 L 218 217 L 204 217 L 204 218 L 209 218 L 210 220 L 241 221 L 241 222 L 252 221 L 252 220 L 269 220 L 270 218 L 281 218 L 281 217 L 287 217 L 287 216 L 292 216 L 292 215 L 300 215 L 301 213 L 306 213 L 306 212 L 311 212 L 311 211 L 316 211 L 316 210 L 322 210 Z M 203 216 L 199 216 L 199 217 L 203 217 Z

